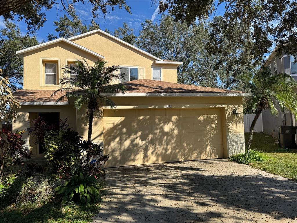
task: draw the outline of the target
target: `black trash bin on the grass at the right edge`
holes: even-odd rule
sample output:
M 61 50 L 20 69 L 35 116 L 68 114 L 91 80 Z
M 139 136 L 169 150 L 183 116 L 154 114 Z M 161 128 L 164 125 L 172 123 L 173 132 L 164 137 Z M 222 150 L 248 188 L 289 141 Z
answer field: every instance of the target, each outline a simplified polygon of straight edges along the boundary
M 279 125 L 279 147 L 296 149 L 295 134 L 297 126 Z

